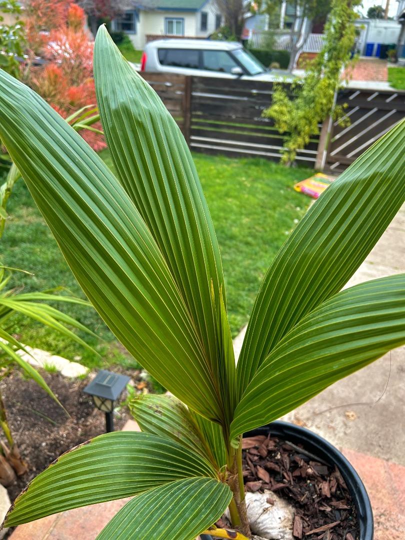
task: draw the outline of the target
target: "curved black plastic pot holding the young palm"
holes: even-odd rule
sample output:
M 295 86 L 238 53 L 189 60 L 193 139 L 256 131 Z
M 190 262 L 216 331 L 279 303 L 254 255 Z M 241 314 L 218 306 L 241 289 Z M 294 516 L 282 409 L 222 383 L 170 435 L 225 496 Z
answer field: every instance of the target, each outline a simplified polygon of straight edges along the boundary
M 302 443 L 305 450 L 315 456 L 320 457 L 330 465 L 336 465 L 346 482 L 347 488 L 352 495 L 357 511 L 357 522 L 360 528 L 360 540 L 373 540 L 374 520 L 373 510 L 367 495 L 366 488 L 360 480 L 352 465 L 346 457 L 324 438 L 316 435 L 309 429 L 289 424 L 288 422 L 276 421 L 245 433 L 245 437 L 255 435 L 266 435 L 270 431 L 271 435 L 290 441 L 294 444 Z M 201 540 L 212 540 L 211 536 L 201 535 Z

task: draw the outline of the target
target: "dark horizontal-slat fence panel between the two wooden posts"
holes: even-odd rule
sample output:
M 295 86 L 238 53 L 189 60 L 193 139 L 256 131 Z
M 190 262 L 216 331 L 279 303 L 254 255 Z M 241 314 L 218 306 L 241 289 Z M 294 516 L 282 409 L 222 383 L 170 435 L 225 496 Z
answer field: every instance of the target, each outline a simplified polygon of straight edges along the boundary
M 192 150 L 280 159 L 285 138 L 261 116 L 271 104 L 272 83 L 193 77 L 191 92 Z M 299 150 L 299 163 L 314 165 L 318 141 Z

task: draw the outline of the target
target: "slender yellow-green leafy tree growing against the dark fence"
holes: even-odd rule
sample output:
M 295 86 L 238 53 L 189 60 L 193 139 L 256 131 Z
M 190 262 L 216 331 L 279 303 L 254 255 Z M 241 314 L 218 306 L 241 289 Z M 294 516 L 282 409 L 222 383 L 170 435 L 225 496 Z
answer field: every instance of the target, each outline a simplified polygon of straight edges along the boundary
M 353 8 L 360 1 L 333 0 L 325 26 L 325 45 L 305 78 L 296 79 L 289 93 L 282 85 L 274 85 L 273 103 L 264 116 L 273 118 L 280 133 L 288 133 L 282 157 L 286 164 L 291 164 L 296 151 L 319 133 L 319 123 L 330 114 L 344 121 L 343 108 L 335 106 L 336 93 L 342 84 L 342 71 L 350 62 L 356 35 L 354 21 L 358 17 Z

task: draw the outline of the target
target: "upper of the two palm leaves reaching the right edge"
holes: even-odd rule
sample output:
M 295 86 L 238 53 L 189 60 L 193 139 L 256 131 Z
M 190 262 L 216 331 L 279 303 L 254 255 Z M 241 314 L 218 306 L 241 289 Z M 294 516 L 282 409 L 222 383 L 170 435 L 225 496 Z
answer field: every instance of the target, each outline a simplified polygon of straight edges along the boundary
M 328 187 L 276 255 L 239 357 L 239 395 L 280 339 L 340 291 L 403 204 L 404 126 L 405 120 Z

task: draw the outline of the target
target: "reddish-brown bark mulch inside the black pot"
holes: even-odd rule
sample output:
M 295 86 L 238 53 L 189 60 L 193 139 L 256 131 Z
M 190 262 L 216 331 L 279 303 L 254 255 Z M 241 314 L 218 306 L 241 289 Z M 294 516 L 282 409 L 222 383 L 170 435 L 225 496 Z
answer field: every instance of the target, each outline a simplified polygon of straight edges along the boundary
M 267 489 L 288 500 L 295 510 L 294 538 L 359 538 L 355 506 L 336 467 L 277 437 L 245 438 L 243 446 L 246 490 Z

